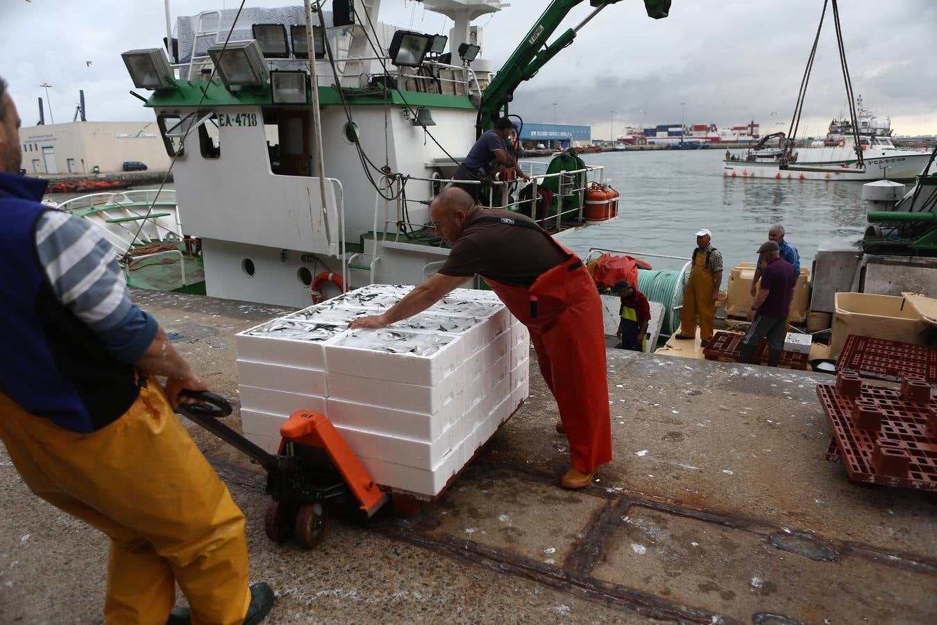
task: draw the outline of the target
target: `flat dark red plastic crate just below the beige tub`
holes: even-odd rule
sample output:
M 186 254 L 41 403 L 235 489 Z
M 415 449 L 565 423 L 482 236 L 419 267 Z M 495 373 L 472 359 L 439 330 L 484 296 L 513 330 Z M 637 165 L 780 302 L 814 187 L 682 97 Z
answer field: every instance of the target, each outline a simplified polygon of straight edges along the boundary
M 849 335 L 836 360 L 836 370 L 889 381 L 915 376 L 937 386 L 937 347 Z

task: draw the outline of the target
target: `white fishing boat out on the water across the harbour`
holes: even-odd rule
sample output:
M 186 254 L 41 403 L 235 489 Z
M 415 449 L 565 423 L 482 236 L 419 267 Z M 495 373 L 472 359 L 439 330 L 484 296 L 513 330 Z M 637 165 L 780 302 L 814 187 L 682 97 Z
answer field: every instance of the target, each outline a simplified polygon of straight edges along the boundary
M 930 152 L 907 150 L 892 142 L 891 120 L 880 119 L 856 97 L 856 124 L 843 116 L 830 122 L 825 139 L 794 147 L 787 159 L 796 170 L 783 167 L 788 138 L 774 133 L 749 149 L 726 152 L 722 175 L 784 180 L 913 180 L 928 163 Z M 858 138 L 858 142 L 856 142 Z M 863 164 L 858 161 L 861 152 Z

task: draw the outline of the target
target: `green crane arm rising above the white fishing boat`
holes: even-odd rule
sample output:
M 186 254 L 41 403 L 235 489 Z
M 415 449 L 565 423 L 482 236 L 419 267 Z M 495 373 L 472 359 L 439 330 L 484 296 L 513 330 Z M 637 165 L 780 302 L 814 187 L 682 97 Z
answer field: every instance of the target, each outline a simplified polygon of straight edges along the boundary
M 644 0 L 647 15 L 659 20 L 667 17 L 671 0 Z M 576 33 L 586 25 L 595 15 L 608 5 L 614 5 L 619 0 L 590 0 L 596 7 L 588 17 L 575 28 L 570 28 L 560 35 L 556 41 L 547 45 L 546 38 L 553 35 L 567 14 L 583 0 L 553 0 L 540 19 L 534 23 L 527 36 L 514 50 L 511 58 L 498 70 L 495 80 L 488 85 L 482 94 L 482 103 L 479 106 L 478 121 L 475 125 L 476 136 L 481 136 L 485 130 L 490 130 L 498 119 L 502 108 L 507 107 L 513 99 L 514 89 L 521 82 L 529 81 L 540 68 L 552 59 L 566 46 L 573 43 Z

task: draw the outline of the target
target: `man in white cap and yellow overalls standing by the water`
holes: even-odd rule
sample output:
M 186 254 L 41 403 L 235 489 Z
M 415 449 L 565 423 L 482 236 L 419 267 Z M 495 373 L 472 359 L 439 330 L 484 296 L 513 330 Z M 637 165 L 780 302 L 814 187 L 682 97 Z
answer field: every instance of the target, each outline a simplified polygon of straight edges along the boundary
M 696 325 L 700 326 L 700 344 L 703 347 L 712 339 L 713 320 L 716 317 L 716 300 L 722 284 L 722 255 L 710 245 L 712 232 L 705 228 L 696 232 L 696 249 L 692 255 L 690 281 L 683 291 L 683 312 L 677 338 L 692 339 L 696 336 Z

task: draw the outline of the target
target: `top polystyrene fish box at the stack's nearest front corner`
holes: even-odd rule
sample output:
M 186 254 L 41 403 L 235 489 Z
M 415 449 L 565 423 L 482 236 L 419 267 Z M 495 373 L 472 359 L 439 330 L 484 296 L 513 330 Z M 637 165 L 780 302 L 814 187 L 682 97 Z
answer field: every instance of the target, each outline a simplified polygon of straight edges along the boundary
M 432 386 L 462 364 L 454 335 L 398 330 L 354 330 L 330 341 L 328 369 L 362 378 Z

